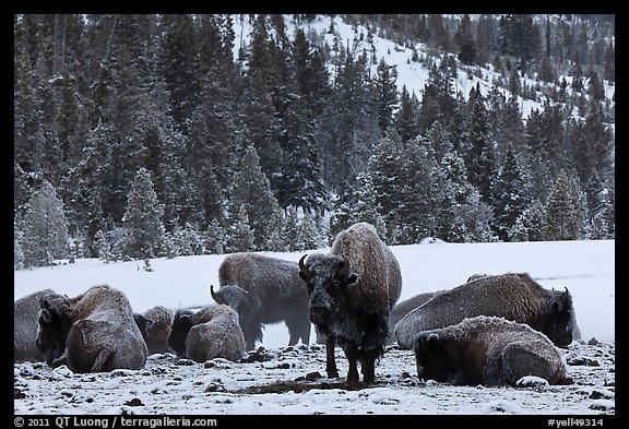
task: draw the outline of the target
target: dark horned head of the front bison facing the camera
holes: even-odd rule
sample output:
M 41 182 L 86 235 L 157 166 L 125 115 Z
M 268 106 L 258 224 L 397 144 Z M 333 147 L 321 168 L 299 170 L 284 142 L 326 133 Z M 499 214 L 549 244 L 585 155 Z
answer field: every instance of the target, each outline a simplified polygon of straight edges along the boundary
M 305 262 L 299 260 L 299 276 L 310 294 L 310 321 L 325 324 L 331 312 L 345 307 L 346 288 L 356 283 L 358 276 L 342 255 L 314 254 Z

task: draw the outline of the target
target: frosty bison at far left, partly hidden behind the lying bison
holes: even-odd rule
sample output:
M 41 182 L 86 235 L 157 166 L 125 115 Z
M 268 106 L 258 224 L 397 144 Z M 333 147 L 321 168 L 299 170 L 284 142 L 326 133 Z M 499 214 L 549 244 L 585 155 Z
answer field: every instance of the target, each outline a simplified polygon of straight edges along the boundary
M 43 361 L 44 354 L 37 349 L 39 298 L 55 294 L 52 289 L 34 291 L 14 302 L 13 310 L 13 361 Z

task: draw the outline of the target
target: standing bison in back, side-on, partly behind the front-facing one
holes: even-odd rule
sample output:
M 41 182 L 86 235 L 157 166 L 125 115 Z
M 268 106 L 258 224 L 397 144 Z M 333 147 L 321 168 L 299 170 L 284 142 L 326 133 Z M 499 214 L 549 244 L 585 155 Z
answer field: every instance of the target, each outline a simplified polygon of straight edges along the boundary
M 308 289 L 299 278 L 297 262 L 259 253 L 234 253 L 218 267 L 221 288 L 210 294 L 217 303 L 236 310 L 248 350 L 262 341 L 262 326 L 285 322 L 288 345 L 310 343 Z

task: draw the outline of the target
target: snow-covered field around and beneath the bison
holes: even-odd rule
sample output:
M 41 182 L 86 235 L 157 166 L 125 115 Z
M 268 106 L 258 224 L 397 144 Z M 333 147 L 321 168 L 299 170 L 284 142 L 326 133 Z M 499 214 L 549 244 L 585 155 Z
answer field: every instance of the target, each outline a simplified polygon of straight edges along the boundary
M 403 290 L 413 295 L 458 286 L 474 273 L 527 272 L 547 288 L 567 287 L 582 341 L 562 354 L 570 385 L 451 386 L 418 380 L 412 351 L 388 349 L 375 385 L 344 384 L 346 360 L 336 349 L 339 379 L 325 378 L 324 348 L 286 347 L 283 325 L 266 326 L 250 362 L 197 364 L 153 355 L 142 370 L 73 374 L 41 362 L 14 365 L 16 415 L 615 415 L 615 241 L 432 243 L 391 248 Z M 327 251 L 321 249 L 319 251 Z M 309 251 L 312 253 L 314 251 Z M 299 253 L 266 253 L 297 261 Z M 14 272 L 14 298 L 52 288 L 76 296 L 95 284 L 123 290 L 135 311 L 212 303 L 224 255 L 202 255 Z M 323 377 L 321 377 L 323 376 Z M 598 421 L 588 426 L 598 425 Z M 585 424 L 584 424 L 585 425 Z

